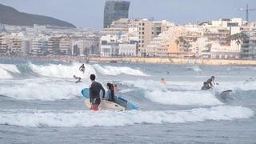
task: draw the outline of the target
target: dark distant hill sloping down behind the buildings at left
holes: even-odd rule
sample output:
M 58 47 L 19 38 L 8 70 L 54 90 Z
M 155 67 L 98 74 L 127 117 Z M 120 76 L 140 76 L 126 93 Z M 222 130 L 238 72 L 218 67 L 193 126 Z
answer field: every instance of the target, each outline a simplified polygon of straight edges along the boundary
M 34 24 L 38 24 L 75 27 L 69 22 L 37 14 L 22 13 L 10 6 L 4 6 L 2 4 L 0 4 L 0 23 L 12 26 L 34 26 Z

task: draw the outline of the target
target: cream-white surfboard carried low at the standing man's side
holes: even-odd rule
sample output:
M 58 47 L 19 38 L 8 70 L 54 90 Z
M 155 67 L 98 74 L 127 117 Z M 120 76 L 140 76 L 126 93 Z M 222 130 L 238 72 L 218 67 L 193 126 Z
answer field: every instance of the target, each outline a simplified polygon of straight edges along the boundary
M 85 105 L 90 109 L 90 99 L 86 98 L 86 100 L 84 102 L 85 102 Z M 126 110 L 126 108 L 123 107 L 123 106 L 118 105 L 117 103 L 102 100 L 102 102 L 98 106 L 98 110 L 124 111 L 124 110 Z

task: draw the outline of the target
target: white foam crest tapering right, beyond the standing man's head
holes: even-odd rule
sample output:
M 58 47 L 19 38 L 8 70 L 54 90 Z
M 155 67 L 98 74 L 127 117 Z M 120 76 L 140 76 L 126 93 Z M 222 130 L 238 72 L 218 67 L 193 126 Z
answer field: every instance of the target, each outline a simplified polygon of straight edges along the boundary
M 93 65 L 98 73 L 107 75 L 118 75 L 118 74 L 130 74 L 137 76 L 148 76 L 144 74 L 141 70 L 135 70 L 128 66 L 100 66 L 98 64 Z

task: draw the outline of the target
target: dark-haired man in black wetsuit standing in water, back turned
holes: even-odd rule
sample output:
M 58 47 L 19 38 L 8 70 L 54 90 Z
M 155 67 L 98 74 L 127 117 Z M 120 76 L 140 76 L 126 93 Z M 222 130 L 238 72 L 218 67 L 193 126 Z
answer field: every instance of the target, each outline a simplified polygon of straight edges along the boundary
M 96 76 L 90 74 L 90 110 L 98 110 L 98 106 L 101 103 L 100 91 L 102 90 L 102 99 L 105 98 L 105 90 L 99 82 L 95 82 Z

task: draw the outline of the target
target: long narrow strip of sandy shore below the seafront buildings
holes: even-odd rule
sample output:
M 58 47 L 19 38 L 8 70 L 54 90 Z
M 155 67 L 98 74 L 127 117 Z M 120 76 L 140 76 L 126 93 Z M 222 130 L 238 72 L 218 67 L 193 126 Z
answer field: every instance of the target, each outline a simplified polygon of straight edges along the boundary
M 115 58 L 115 57 L 70 57 L 70 56 L 0 56 L 0 59 L 44 60 L 56 62 L 131 62 L 148 64 L 185 64 L 202 66 L 256 66 L 256 60 L 242 59 L 196 59 L 196 58 Z

